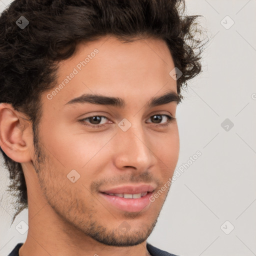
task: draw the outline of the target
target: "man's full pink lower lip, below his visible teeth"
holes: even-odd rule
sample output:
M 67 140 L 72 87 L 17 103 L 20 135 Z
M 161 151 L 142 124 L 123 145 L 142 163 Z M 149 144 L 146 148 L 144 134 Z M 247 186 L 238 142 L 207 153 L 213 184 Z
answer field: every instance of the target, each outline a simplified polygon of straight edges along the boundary
M 147 192 L 146 195 L 140 198 L 124 198 L 106 193 L 100 194 L 103 196 L 103 198 L 105 198 L 108 202 L 120 210 L 138 212 L 148 208 L 147 206 L 150 204 L 149 197 L 152 192 Z

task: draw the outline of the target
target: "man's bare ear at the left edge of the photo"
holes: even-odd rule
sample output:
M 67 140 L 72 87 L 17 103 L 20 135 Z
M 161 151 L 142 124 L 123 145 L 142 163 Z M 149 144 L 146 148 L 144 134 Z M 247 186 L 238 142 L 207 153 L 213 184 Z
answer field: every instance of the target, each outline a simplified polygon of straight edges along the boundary
M 0 103 L 0 147 L 15 162 L 31 160 L 31 123 L 9 103 Z

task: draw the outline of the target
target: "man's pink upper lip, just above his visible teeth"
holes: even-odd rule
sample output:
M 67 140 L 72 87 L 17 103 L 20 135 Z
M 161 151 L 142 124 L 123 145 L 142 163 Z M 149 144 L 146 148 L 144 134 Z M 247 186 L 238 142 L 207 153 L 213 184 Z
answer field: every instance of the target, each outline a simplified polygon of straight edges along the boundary
M 100 191 L 101 193 L 118 193 L 118 194 L 137 194 L 142 192 L 152 192 L 156 186 L 151 184 L 141 184 L 141 185 L 122 185 L 118 187 L 109 188 Z

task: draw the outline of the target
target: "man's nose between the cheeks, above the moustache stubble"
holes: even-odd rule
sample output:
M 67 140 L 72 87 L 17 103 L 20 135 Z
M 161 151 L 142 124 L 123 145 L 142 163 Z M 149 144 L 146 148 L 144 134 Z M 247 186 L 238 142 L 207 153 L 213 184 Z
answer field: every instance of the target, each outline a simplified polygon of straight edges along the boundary
M 118 169 L 132 167 L 143 172 L 156 163 L 150 139 L 141 125 L 131 125 L 126 131 L 118 128 L 114 144 L 114 163 Z

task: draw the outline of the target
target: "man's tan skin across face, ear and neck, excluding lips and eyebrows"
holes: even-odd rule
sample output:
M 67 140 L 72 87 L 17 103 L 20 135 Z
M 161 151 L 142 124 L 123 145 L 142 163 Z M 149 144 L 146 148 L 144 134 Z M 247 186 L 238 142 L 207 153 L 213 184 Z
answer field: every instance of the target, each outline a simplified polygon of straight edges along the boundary
M 172 176 L 179 153 L 177 122 L 161 127 L 150 116 L 163 114 L 161 123 L 167 122 L 164 114 L 175 117 L 177 102 L 146 104 L 177 92 L 169 75 L 173 60 L 161 39 L 123 43 L 104 36 L 78 44 L 74 55 L 59 63 L 57 84 L 95 48 L 99 52 L 52 99 L 47 94 L 53 89 L 41 95 L 37 150 L 24 114 L 0 104 L 1 147 L 21 163 L 27 185 L 29 229 L 20 256 L 148 255 L 146 239 L 169 187 L 140 212 L 115 208 L 98 190 L 150 183 L 157 191 Z M 120 97 L 125 107 L 66 104 L 83 93 Z M 106 116 L 100 120 L 105 126 L 78 121 L 91 115 Z M 123 118 L 131 123 L 125 132 L 118 126 Z M 80 174 L 74 183 L 67 178 L 72 169 Z M 126 232 L 119 229 L 123 221 Z

